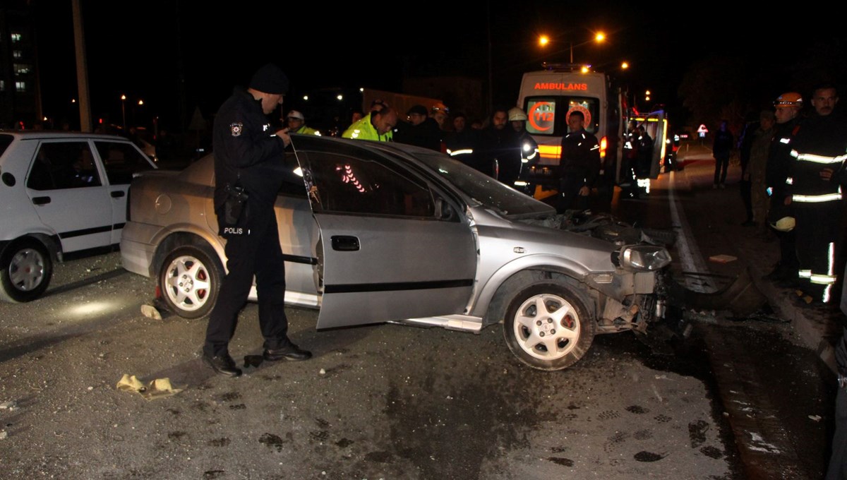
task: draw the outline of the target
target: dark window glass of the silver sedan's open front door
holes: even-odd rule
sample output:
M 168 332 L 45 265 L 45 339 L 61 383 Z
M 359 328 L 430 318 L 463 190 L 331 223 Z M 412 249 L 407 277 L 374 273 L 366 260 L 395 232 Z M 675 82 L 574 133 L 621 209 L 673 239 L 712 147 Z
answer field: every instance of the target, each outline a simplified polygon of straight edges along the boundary
M 368 159 L 309 152 L 308 163 L 324 212 L 434 217 L 429 187 L 389 168 L 379 157 Z

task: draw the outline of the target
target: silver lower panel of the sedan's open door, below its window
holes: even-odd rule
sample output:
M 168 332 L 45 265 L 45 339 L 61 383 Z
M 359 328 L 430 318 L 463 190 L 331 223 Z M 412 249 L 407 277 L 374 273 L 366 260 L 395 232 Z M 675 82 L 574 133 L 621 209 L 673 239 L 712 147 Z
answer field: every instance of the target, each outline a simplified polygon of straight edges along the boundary
M 318 328 L 464 313 L 473 235 L 462 223 L 316 213 L 323 246 Z M 338 248 L 356 239 L 358 248 Z

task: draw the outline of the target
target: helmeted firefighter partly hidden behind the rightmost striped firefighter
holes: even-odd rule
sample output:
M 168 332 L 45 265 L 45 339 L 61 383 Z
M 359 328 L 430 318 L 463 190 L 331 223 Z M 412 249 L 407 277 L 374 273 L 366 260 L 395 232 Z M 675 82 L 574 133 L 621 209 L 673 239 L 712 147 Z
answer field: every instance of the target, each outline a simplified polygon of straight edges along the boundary
M 796 91 L 787 91 L 777 97 L 773 102 L 773 107 L 773 115 L 777 119 L 777 124 L 773 130 L 771 146 L 767 149 L 765 186 L 767 187 L 767 195 L 770 196 L 767 222 L 777 233 L 779 262 L 772 272 L 766 275 L 766 278 L 780 286 L 789 287 L 797 285 L 797 271 L 799 269 L 794 241 L 794 226 L 790 223 L 787 226 L 782 226 L 785 222 L 778 222 L 783 218 L 794 218 L 794 215 L 790 212 L 791 198 L 785 181 L 789 177 L 791 164 L 794 163 L 794 157 L 791 157 L 793 147 L 791 142 L 799 128 L 803 97 Z

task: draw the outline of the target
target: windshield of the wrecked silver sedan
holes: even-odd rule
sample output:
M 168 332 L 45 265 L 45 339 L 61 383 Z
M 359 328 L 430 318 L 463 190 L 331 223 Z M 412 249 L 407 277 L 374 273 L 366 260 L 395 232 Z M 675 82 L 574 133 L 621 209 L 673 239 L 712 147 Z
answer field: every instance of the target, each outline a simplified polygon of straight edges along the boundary
M 465 195 L 484 207 L 500 212 L 501 215 L 526 218 L 556 212 L 550 205 L 507 187 L 443 153 L 415 152 L 414 155 L 458 190 L 462 190 Z

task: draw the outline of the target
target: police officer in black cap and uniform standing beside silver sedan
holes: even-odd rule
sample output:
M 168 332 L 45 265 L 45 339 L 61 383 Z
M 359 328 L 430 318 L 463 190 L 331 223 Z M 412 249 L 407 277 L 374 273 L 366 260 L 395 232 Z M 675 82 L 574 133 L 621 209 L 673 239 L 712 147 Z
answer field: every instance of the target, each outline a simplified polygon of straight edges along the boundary
M 268 63 L 253 74 L 249 88 L 235 88 L 219 108 L 213 126 L 214 205 L 226 238 L 228 273 L 209 317 L 202 358 L 215 372 L 230 377 L 241 375 L 229 344 L 254 275 L 264 359 L 307 360 L 312 356 L 288 338 L 285 263 L 274 214 L 283 181 L 274 163 L 283 159 L 291 138 L 287 129 L 271 129 L 267 116 L 282 104 L 286 91 L 288 78 L 280 67 Z M 246 207 L 235 226 L 224 227 L 230 224 L 228 191 L 235 187 L 248 196 Z

